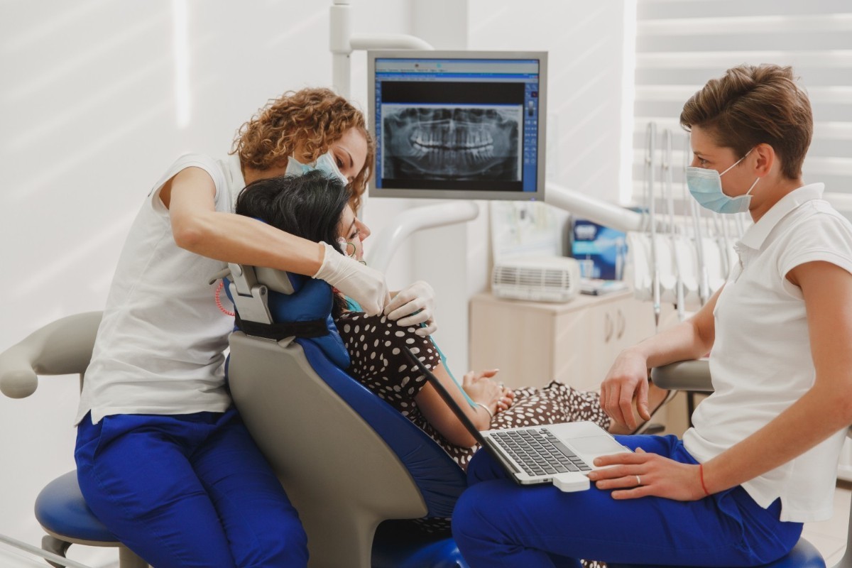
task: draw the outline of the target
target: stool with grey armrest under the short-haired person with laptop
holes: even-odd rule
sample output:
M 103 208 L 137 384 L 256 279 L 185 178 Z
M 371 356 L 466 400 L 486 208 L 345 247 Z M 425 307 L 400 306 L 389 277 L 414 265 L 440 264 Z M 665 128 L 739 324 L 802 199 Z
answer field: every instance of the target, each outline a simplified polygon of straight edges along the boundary
M 697 361 L 681 361 L 651 371 L 655 385 L 669 390 L 682 390 L 688 393 L 712 393 L 710 381 L 710 364 L 706 359 Z M 852 427 L 847 432 L 852 437 Z M 846 537 L 846 551 L 843 558 L 833 568 L 852 568 L 852 552 L 849 543 L 852 542 L 852 505 L 849 507 L 849 529 Z M 641 565 L 609 564 L 609 568 L 642 568 Z M 682 566 L 681 568 L 689 568 Z M 763 565 L 761 568 L 826 568 L 826 561 L 813 544 L 800 538 L 790 554 Z

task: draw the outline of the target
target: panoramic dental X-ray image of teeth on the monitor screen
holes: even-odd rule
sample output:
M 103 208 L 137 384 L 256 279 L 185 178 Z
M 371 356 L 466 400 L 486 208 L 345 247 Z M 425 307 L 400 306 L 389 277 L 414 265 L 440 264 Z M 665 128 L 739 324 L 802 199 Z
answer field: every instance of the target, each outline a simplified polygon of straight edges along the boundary
M 522 106 L 382 108 L 382 177 L 521 181 Z

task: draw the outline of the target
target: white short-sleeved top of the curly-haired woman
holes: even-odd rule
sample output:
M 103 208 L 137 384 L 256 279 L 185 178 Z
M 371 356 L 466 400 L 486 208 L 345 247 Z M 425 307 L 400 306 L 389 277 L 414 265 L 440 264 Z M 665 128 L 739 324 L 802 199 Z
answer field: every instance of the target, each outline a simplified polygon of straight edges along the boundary
M 224 267 L 179 248 L 159 198 L 181 169 L 204 169 L 216 185 L 216 211 L 233 213 L 245 186 L 239 158 L 181 156 L 153 187 L 118 260 L 86 370 L 76 422 L 113 414 L 190 414 L 227 410 L 227 336 L 233 318 L 216 307 L 210 278 Z M 222 295 L 224 297 L 224 295 Z

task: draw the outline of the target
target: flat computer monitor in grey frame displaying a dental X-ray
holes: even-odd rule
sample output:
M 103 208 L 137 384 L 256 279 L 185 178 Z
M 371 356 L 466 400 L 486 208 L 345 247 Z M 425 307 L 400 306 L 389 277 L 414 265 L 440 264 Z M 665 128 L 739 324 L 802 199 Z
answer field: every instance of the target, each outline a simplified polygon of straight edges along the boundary
M 547 54 L 367 52 L 370 197 L 544 201 Z

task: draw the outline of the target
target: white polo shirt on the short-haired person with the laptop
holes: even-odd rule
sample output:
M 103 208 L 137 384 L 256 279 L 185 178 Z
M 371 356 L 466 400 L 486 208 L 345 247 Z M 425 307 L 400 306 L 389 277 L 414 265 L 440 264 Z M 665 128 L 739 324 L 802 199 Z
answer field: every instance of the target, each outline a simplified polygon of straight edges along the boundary
M 802 291 L 786 275 L 810 261 L 852 273 L 852 225 L 822 199 L 823 184 L 803 186 L 769 209 L 734 248 L 734 267 L 713 312 L 714 392 L 683 435 L 699 462 L 765 426 L 814 385 Z M 743 484 L 761 507 L 781 499 L 781 520 L 832 516 L 838 456 L 846 428 L 820 445 Z

